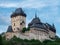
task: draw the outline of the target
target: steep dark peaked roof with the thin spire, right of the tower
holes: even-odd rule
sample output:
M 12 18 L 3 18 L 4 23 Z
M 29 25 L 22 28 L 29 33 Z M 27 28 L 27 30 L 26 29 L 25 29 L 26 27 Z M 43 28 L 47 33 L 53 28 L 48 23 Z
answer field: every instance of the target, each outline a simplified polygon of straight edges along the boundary
M 39 17 L 35 16 L 35 18 L 31 21 L 31 23 L 28 24 L 30 28 L 41 28 L 41 29 L 46 29 L 44 23 L 42 23 L 39 19 Z

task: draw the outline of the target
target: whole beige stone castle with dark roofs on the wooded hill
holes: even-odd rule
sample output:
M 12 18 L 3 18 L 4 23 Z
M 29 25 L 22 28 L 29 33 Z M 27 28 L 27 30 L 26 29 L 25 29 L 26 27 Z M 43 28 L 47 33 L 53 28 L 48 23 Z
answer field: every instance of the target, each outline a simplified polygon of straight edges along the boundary
M 16 36 L 21 39 L 53 39 L 56 36 L 56 29 L 54 24 L 50 25 L 48 23 L 42 23 L 39 17 L 35 15 L 35 18 L 28 24 L 30 27 L 29 31 L 22 33 L 22 29 L 26 27 L 26 14 L 22 8 L 17 8 L 15 12 L 11 15 L 11 26 L 8 27 L 8 30 L 5 34 L 6 39 L 11 39 L 13 36 Z

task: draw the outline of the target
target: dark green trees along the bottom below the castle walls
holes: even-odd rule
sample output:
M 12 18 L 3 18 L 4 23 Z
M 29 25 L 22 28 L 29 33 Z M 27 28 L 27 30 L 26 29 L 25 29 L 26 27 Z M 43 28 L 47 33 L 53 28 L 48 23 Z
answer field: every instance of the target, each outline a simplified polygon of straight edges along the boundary
M 0 45 L 60 45 L 60 38 L 55 40 L 44 40 L 43 42 L 40 42 L 39 40 L 35 39 L 20 39 L 16 36 L 10 40 L 5 40 L 5 38 L 0 35 Z

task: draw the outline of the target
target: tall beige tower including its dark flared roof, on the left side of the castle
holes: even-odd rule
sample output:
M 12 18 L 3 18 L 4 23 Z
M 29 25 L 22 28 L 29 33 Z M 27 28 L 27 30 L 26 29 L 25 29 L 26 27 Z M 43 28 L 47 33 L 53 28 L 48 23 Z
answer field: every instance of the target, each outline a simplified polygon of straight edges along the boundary
M 22 8 L 18 8 L 11 15 L 11 24 L 13 32 L 20 32 L 26 26 L 26 14 Z

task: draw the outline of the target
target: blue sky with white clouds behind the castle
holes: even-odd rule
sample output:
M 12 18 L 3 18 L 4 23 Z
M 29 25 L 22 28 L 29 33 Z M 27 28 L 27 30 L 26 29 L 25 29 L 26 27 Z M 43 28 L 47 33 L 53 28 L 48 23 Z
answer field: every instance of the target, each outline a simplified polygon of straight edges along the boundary
M 26 13 L 26 26 L 36 13 L 41 22 L 54 24 L 60 36 L 60 0 L 0 0 L 0 33 L 7 31 L 11 25 L 10 16 L 17 8 Z

